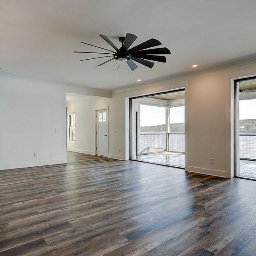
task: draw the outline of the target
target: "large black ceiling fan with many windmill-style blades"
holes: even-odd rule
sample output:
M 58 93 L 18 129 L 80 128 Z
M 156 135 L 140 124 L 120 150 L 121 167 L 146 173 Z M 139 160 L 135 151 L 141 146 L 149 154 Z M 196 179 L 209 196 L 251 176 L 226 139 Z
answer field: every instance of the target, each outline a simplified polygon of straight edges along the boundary
M 105 49 L 105 48 L 102 48 L 99 46 L 81 42 L 82 44 L 94 46 L 94 47 L 106 50 L 108 52 L 78 52 L 78 53 L 108 54 L 108 56 L 89 58 L 89 59 L 84 59 L 84 60 L 93 60 L 93 59 L 111 57 L 110 60 L 102 62 L 101 64 L 99 64 L 95 67 L 106 64 L 107 62 L 110 62 L 111 60 L 117 60 L 116 65 L 113 68 L 113 71 L 120 68 L 120 65 L 122 62 L 126 62 L 128 64 L 128 66 L 130 67 L 130 69 L 132 71 L 134 71 L 136 68 L 138 68 L 138 66 L 134 63 L 134 61 L 138 62 L 148 68 L 153 68 L 154 62 L 149 61 L 149 60 L 158 61 L 158 62 L 166 62 L 165 56 L 158 56 L 156 54 L 171 54 L 170 50 L 168 50 L 166 47 L 148 49 L 148 48 L 151 48 L 154 46 L 161 45 L 161 43 L 154 38 L 149 39 L 141 44 L 138 44 L 137 46 L 130 48 L 130 46 L 137 39 L 137 36 L 135 36 L 134 34 L 127 33 L 125 37 L 124 36 L 119 37 L 119 42 L 122 44 L 122 46 L 121 46 L 121 48 L 118 49 L 118 47 L 116 47 L 116 45 L 107 36 L 100 34 L 100 37 L 103 38 L 108 44 L 110 44 L 110 46 L 112 46 L 112 48 L 114 48 L 114 50 L 116 50 L 116 51 L 114 52 L 112 50 L 108 50 L 108 49 Z M 148 49 L 148 50 L 145 50 L 145 49 Z M 109 53 L 109 52 L 111 52 L 111 53 Z M 112 56 L 110 56 L 110 55 L 112 55 Z M 84 61 L 84 60 L 80 60 L 80 61 Z

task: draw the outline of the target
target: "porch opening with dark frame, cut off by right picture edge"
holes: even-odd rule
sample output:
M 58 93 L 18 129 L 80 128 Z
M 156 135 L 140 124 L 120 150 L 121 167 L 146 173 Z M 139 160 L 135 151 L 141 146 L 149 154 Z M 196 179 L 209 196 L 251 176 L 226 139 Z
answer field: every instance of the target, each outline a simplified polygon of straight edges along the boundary
M 235 176 L 256 180 L 256 78 L 235 81 Z

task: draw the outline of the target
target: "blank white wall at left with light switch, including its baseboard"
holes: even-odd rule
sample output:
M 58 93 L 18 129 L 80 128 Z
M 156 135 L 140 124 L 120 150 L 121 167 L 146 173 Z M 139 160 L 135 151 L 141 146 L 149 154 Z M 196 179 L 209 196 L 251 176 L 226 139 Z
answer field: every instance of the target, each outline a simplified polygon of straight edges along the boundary
M 1 77 L 1 170 L 67 162 L 65 99 L 60 87 Z

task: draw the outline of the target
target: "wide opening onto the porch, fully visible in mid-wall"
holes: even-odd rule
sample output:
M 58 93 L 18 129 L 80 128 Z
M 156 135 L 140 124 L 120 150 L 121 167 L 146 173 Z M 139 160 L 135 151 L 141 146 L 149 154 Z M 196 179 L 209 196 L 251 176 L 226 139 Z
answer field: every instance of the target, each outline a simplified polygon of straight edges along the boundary
M 130 98 L 130 159 L 185 167 L 184 89 Z

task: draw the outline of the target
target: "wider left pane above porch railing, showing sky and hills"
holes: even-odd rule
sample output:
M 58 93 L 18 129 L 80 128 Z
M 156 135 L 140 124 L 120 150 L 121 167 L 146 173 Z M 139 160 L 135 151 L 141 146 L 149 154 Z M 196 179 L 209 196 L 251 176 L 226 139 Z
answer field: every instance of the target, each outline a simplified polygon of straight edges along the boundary
M 140 132 L 166 133 L 165 107 L 140 105 Z

